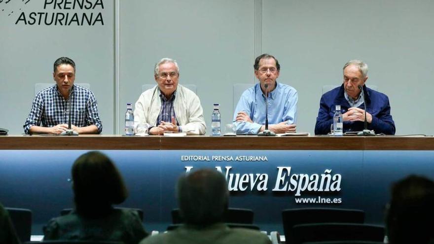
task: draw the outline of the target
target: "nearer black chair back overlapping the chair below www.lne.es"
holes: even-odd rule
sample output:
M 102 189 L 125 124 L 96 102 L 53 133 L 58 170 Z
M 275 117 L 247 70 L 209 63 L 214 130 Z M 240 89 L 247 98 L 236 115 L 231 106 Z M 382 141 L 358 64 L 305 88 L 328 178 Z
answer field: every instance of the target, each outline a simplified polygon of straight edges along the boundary
M 294 225 L 292 231 L 292 244 L 325 241 L 382 242 L 384 240 L 384 227 L 368 224 L 300 224 Z

